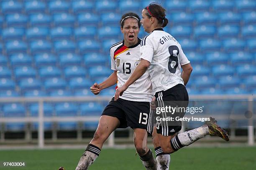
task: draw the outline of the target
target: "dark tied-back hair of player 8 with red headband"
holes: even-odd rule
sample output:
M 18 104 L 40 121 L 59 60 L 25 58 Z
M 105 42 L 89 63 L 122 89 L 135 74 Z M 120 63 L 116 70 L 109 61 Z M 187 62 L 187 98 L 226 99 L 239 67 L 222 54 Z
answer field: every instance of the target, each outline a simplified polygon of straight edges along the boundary
M 165 27 L 168 24 L 168 19 L 165 18 L 165 9 L 156 2 L 150 3 L 147 7 L 144 8 L 146 10 L 146 15 L 148 18 L 155 17 L 158 20 L 158 24 L 161 24 L 162 27 Z

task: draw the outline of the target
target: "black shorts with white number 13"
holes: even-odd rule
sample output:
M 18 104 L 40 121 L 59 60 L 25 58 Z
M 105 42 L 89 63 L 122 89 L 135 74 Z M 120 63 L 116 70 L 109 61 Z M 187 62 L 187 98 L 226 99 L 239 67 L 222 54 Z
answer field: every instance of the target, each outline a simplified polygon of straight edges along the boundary
M 152 114 L 150 102 L 136 102 L 114 97 L 105 107 L 102 115 L 117 117 L 120 121 L 118 128 L 140 128 L 146 129 L 148 133 L 153 131 Z

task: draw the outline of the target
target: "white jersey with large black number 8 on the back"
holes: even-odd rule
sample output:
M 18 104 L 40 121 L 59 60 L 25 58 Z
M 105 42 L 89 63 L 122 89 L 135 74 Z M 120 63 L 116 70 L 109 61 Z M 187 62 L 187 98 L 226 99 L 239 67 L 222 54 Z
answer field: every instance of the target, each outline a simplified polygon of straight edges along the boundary
M 172 35 L 162 28 L 155 29 L 141 40 L 140 54 L 140 58 L 151 63 L 149 73 L 154 94 L 177 84 L 184 85 L 181 65 L 190 61 Z

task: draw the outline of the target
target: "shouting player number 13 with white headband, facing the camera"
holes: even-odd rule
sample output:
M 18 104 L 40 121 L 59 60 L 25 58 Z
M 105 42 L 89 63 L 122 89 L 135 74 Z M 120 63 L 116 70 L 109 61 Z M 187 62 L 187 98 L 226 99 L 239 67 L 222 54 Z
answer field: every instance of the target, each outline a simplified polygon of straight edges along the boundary
M 110 47 L 111 69 L 113 73 L 104 82 L 95 83 L 90 90 L 99 94 L 101 90 L 117 83 L 117 87 L 128 80 L 139 63 L 140 18 L 135 13 L 126 13 L 120 20 L 124 40 Z M 153 98 L 149 71 L 134 82 L 117 101 L 113 99 L 102 112 L 93 139 L 84 151 L 76 170 L 87 168 L 100 155 L 102 145 L 116 128 L 133 128 L 134 145 L 147 170 L 156 170 L 152 151 L 147 147 L 147 131 L 152 133 L 150 102 Z M 156 145 L 157 140 L 154 139 Z M 104 169 L 104 168 L 102 168 Z

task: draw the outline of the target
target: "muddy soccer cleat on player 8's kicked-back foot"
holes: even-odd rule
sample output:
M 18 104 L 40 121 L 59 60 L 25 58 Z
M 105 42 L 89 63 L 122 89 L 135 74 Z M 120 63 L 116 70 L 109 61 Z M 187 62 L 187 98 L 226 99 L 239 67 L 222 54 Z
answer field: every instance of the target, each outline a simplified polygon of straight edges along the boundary
M 219 136 L 220 138 L 223 138 L 225 141 L 229 141 L 229 136 L 226 130 L 223 128 L 220 128 L 217 125 L 217 121 L 215 118 L 210 117 L 210 121 L 206 121 L 205 125 L 209 128 L 209 133 L 211 136 Z

